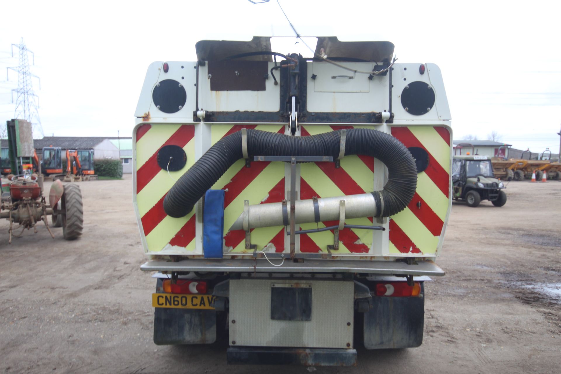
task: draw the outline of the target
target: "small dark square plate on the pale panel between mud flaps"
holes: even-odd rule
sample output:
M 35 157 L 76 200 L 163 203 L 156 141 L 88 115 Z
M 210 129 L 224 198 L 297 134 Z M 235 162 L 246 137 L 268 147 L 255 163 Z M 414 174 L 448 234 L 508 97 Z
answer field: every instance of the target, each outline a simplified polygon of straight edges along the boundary
M 271 319 L 311 321 L 312 285 L 301 283 L 271 284 Z

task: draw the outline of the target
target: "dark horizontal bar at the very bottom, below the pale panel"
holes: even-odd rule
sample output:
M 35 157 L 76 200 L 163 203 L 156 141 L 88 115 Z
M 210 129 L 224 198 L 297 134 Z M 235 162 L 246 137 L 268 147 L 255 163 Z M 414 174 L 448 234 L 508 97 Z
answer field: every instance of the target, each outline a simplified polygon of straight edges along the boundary
M 229 364 L 356 366 L 356 349 L 230 347 Z

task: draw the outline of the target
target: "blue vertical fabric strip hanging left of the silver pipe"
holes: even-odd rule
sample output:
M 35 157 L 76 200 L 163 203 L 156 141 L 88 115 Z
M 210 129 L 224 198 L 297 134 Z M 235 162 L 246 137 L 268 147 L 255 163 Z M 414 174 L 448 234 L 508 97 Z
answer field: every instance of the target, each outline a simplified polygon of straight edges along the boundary
M 203 214 L 203 253 L 205 258 L 222 258 L 224 236 L 224 190 L 208 190 Z

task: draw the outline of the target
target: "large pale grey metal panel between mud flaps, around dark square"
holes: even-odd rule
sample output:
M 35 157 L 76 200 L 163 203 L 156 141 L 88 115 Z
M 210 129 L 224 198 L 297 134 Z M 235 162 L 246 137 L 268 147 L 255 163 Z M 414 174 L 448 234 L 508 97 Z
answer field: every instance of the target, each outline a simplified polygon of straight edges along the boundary
M 231 279 L 229 288 L 231 347 L 352 348 L 354 324 L 352 281 L 306 280 L 305 283 L 311 284 L 313 290 L 311 320 L 285 321 L 270 318 L 272 284 L 299 282 L 299 280 L 278 279 Z

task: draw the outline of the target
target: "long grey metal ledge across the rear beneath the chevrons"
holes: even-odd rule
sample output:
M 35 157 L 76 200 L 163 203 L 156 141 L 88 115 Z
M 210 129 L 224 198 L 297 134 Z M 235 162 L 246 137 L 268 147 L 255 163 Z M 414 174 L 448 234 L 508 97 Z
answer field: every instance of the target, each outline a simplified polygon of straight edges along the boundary
M 277 262 L 278 260 L 275 259 Z M 256 264 L 256 265 L 255 265 Z M 254 267 L 255 265 L 255 267 Z M 140 266 L 143 271 L 218 271 L 229 273 L 367 273 L 387 275 L 429 275 L 443 276 L 433 261 L 417 261 L 408 265 L 401 261 L 370 260 L 306 260 L 304 262 L 285 261 L 282 266 L 273 266 L 266 260 L 182 260 L 148 261 Z

